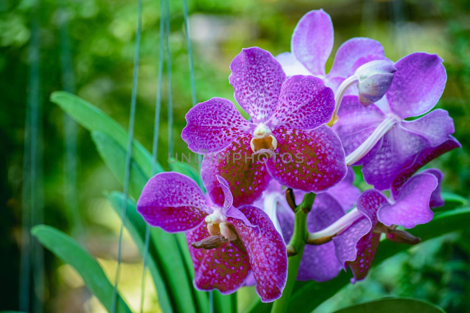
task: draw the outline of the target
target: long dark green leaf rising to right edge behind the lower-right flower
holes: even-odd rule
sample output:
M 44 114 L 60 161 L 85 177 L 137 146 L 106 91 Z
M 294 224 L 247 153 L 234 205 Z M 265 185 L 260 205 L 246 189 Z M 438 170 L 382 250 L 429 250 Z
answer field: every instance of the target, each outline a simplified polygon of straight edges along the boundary
M 436 214 L 429 223 L 418 225 L 410 230 L 410 232 L 415 236 L 421 237 L 422 241 L 425 241 L 451 231 L 467 228 L 469 219 L 470 207 L 444 211 Z M 379 265 L 385 259 L 407 250 L 409 247 L 407 244 L 398 244 L 390 240 L 382 241 L 378 246 L 373 266 Z M 296 313 L 311 312 L 323 301 L 333 297 L 340 289 L 345 287 L 350 279 L 351 273 L 342 271 L 335 279 L 328 282 L 296 282 L 293 295 L 290 298 L 289 308 L 292 312 Z M 308 301 L 305 301 L 305 299 L 308 299 Z M 258 303 L 251 307 L 250 312 L 269 312 L 271 306 L 272 303 L 261 303 L 258 301 Z

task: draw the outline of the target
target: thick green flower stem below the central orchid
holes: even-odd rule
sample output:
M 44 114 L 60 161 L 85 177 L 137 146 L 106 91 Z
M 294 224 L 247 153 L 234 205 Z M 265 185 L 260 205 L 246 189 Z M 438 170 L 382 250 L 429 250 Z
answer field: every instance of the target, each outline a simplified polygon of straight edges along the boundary
M 308 237 L 307 214 L 312 209 L 315 196 L 316 195 L 312 192 L 306 193 L 302 203 L 296 207 L 294 232 L 288 244 L 288 253 L 293 252 L 294 254 L 288 257 L 289 265 L 287 268 L 286 286 L 282 291 L 281 298 L 274 301 L 271 313 L 283 313 L 287 311 L 287 304 L 289 303 L 290 294 L 292 293 L 297 278 L 300 260 L 302 260 L 302 254 L 304 253 L 305 240 Z

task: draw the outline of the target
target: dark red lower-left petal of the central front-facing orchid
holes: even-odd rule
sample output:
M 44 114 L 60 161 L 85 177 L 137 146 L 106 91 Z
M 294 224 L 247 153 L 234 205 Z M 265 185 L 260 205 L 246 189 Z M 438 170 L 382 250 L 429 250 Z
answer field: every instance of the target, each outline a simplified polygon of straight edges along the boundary
M 255 201 L 271 180 L 263 158 L 258 160 L 258 155 L 252 154 L 250 140 L 250 137 L 239 137 L 224 151 L 204 156 L 201 176 L 204 187 L 215 204 L 222 206 L 224 203 L 216 175 L 227 181 L 235 207 Z

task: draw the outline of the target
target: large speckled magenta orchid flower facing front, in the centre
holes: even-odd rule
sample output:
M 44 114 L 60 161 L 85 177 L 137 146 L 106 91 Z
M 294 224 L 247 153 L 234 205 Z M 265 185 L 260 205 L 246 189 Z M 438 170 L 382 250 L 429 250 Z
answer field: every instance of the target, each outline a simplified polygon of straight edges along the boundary
M 305 192 L 320 192 L 346 175 L 344 150 L 324 125 L 334 110 L 334 95 L 313 76 L 286 80 L 281 65 L 258 47 L 243 49 L 230 64 L 234 104 L 212 98 L 191 108 L 181 137 L 204 153 L 202 178 L 216 204 L 223 203 L 216 175 L 227 180 L 234 205 L 251 204 L 271 178 Z M 216 153 L 209 155 L 208 153 Z

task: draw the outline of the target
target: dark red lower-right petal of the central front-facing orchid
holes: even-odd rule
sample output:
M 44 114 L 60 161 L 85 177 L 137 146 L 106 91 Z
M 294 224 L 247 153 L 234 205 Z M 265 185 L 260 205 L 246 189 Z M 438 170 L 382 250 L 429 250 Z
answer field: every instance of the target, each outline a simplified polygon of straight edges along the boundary
M 347 172 L 345 153 L 337 135 L 328 126 L 301 131 L 278 127 L 278 153 L 267 168 L 279 183 L 305 192 L 325 191 L 339 183 Z

